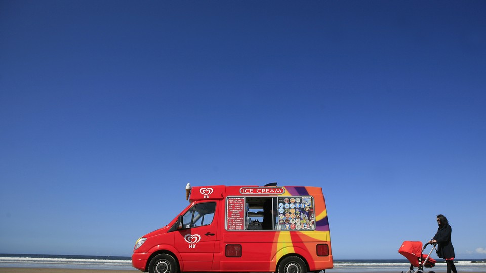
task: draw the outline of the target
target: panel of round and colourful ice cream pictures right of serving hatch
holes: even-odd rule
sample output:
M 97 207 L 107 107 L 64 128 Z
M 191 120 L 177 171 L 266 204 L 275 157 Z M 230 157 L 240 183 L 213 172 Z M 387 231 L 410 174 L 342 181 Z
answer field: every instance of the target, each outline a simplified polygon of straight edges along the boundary
M 314 228 L 315 215 L 312 197 L 278 198 L 277 230 L 313 230 Z

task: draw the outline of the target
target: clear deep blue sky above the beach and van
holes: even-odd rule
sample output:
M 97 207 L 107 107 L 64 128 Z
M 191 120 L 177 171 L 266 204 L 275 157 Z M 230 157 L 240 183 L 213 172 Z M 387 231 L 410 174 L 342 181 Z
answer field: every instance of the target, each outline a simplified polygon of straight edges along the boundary
M 130 256 L 184 187 L 319 186 L 335 259 L 486 258 L 486 3 L 0 1 L 0 253 Z

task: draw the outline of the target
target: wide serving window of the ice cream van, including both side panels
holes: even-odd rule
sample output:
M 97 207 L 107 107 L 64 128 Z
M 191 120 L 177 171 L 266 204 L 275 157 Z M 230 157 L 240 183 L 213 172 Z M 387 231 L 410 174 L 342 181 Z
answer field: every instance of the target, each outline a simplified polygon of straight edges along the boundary
M 226 198 L 227 230 L 314 230 L 311 196 Z

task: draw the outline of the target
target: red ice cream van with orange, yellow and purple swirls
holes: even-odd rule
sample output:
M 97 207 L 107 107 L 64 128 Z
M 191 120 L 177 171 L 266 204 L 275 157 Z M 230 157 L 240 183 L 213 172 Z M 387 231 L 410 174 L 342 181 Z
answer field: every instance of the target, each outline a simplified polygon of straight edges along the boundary
M 137 240 L 133 267 L 150 273 L 333 268 L 322 188 L 188 184 L 186 190 L 190 205 Z

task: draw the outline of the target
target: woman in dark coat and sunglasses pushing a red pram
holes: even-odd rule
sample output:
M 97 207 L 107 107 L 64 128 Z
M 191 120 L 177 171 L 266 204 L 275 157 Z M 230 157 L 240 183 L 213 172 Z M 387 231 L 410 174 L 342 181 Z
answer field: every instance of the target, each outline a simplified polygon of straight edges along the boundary
M 456 266 L 454 265 L 454 247 L 451 242 L 452 228 L 446 219 L 446 216 L 439 214 L 437 215 L 437 223 L 439 228 L 434 238 L 429 241 L 429 243 L 437 243 L 437 256 L 446 260 L 447 273 L 457 273 Z

